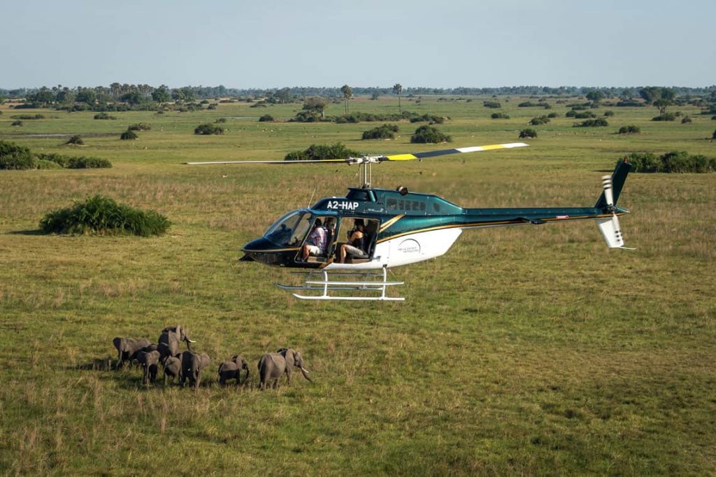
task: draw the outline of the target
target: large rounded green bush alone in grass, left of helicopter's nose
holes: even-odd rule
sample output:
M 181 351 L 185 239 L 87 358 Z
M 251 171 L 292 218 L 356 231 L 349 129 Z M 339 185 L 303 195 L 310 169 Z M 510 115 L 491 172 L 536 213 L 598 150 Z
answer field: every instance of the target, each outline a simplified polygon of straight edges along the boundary
M 87 198 L 69 208 L 51 211 L 40 221 L 44 233 L 153 236 L 165 233 L 170 221 L 154 211 L 141 211 L 105 196 Z

